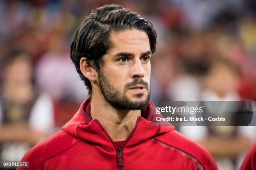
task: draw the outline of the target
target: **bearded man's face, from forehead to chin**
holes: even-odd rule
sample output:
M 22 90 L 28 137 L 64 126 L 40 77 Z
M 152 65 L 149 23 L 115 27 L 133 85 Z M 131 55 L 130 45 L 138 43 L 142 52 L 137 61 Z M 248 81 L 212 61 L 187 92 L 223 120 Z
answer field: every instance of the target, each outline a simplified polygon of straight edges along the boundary
M 98 74 L 105 100 L 118 110 L 141 110 L 150 97 L 151 50 L 148 35 L 141 30 L 110 34 L 111 48 L 103 56 Z

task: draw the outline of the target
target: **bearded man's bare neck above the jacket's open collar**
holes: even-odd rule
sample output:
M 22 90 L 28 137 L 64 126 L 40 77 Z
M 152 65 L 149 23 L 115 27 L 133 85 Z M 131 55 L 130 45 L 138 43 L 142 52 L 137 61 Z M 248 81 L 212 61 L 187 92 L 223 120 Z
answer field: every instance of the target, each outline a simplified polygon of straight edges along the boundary
M 104 97 L 92 95 L 91 116 L 100 121 L 113 141 L 122 141 L 130 135 L 141 110 L 116 110 Z

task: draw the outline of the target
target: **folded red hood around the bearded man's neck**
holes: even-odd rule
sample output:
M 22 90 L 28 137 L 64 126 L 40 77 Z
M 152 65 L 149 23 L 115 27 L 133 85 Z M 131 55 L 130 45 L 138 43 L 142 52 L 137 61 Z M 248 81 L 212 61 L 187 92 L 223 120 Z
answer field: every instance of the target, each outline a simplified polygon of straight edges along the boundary
M 105 148 L 105 150 L 109 150 L 115 144 L 100 122 L 97 119 L 92 120 L 90 107 L 91 102 L 87 98 L 82 102 L 79 110 L 72 119 L 62 127 L 62 130 L 81 140 L 96 143 L 102 148 Z M 157 122 L 156 116 L 161 115 L 156 115 L 156 107 L 149 100 L 148 106 L 141 110 L 141 116 L 138 117 L 133 132 L 125 141 L 125 148 L 141 143 L 148 138 L 153 138 L 156 135 L 174 130 L 174 126 L 169 122 L 164 122 L 164 125 L 163 123 Z

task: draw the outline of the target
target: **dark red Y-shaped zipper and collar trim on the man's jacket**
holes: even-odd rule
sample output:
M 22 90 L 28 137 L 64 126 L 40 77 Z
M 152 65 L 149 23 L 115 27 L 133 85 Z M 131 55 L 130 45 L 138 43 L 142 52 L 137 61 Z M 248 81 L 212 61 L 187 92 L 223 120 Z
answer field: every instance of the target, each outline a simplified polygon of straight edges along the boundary
M 103 132 L 108 136 L 109 140 L 111 141 L 112 145 L 115 147 L 115 149 L 117 150 L 117 158 L 118 158 L 118 170 L 123 170 L 123 148 L 125 147 L 126 143 L 128 142 L 128 140 L 130 140 L 130 138 L 132 137 L 133 133 L 135 132 L 137 126 L 138 126 L 138 122 L 141 119 L 141 116 L 139 116 L 137 118 L 137 121 L 135 123 L 135 126 L 133 128 L 133 130 L 131 131 L 130 135 L 128 136 L 128 138 L 125 140 L 125 142 L 123 143 L 123 146 L 117 147 L 114 143 L 114 141 L 112 140 L 112 138 L 110 138 L 110 135 L 108 135 L 107 131 L 103 128 L 103 126 L 101 125 L 100 121 L 97 119 L 94 119 L 95 122 L 100 126 L 100 128 L 103 130 Z

